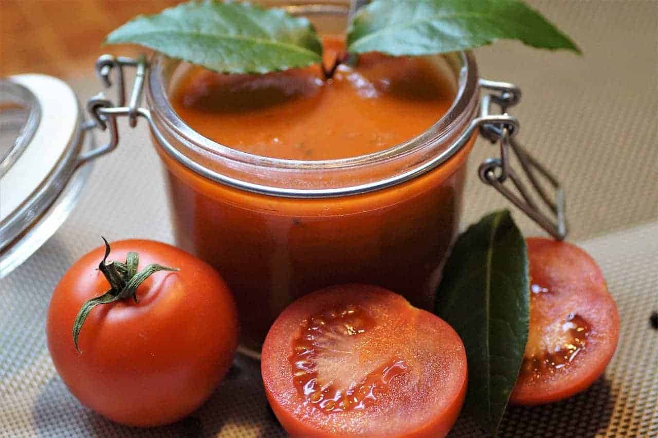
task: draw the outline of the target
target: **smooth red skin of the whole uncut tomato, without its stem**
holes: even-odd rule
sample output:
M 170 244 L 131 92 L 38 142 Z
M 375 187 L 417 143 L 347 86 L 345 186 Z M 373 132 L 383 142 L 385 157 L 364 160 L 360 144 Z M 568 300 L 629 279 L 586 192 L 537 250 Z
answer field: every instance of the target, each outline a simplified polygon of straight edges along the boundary
M 147 278 L 136 291 L 139 303 L 93 308 L 78 353 L 76 314 L 109 289 L 97 270 L 105 248 L 82 256 L 55 287 L 48 309 L 53 363 L 71 393 L 110 420 L 141 427 L 175 422 L 201 406 L 230 368 L 238 344 L 236 305 L 219 274 L 180 249 L 139 239 L 111 247 L 111 260 L 138 253 L 139 270 L 157 263 L 180 271 Z

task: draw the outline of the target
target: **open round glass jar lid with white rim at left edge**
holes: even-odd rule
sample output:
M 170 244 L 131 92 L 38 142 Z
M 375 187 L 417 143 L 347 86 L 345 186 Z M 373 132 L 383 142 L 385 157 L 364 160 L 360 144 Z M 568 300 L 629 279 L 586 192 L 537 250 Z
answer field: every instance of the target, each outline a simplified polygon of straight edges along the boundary
M 0 278 L 32 255 L 72 210 L 93 135 L 74 91 L 42 74 L 0 80 Z M 88 143 L 88 145 L 86 145 Z

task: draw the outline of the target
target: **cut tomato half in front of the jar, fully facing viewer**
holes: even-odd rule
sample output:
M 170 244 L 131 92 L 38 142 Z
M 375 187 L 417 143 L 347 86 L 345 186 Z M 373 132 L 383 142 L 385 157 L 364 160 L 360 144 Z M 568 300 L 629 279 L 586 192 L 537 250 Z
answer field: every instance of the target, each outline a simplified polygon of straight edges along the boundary
M 441 437 L 467 387 L 459 335 L 369 285 L 328 287 L 288 306 L 265 339 L 261 371 L 292 437 Z

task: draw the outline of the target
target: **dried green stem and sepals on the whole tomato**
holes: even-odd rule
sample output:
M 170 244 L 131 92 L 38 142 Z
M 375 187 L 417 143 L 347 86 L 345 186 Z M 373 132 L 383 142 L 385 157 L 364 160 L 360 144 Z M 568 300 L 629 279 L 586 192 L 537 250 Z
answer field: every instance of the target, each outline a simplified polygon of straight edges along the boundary
M 152 263 L 141 270 L 141 272 L 138 272 L 139 255 L 137 253 L 128 253 L 128 255 L 126 255 L 125 263 L 114 261 L 108 262 L 107 256 L 110 255 L 110 244 L 105 237 L 101 238 L 105 242 L 105 255 L 103 256 L 103 260 L 99 263 L 98 269 L 103 272 L 107 282 L 110 283 L 110 289 L 99 297 L 88 299 L 82 304 L 82 307 L 78 311 L 76 319 L 73 322 L 72 331 L 73 343 L 76 346 L 78 353 L 82 353 L 80 348 L 78 348 L 78 337 L 80 336 L 82 324 L 84 324 L 89 312 L 91 312 L 95 306 L 99 304 L 114 303 L 114 301 L 130 297 L 132 297 L 135 303 L 139 303 L 139 300 L 137 299 L 137 288 L 144 280 L 158 271 L 178 271 L 178 268 L 168 268 L 161 264 Z

